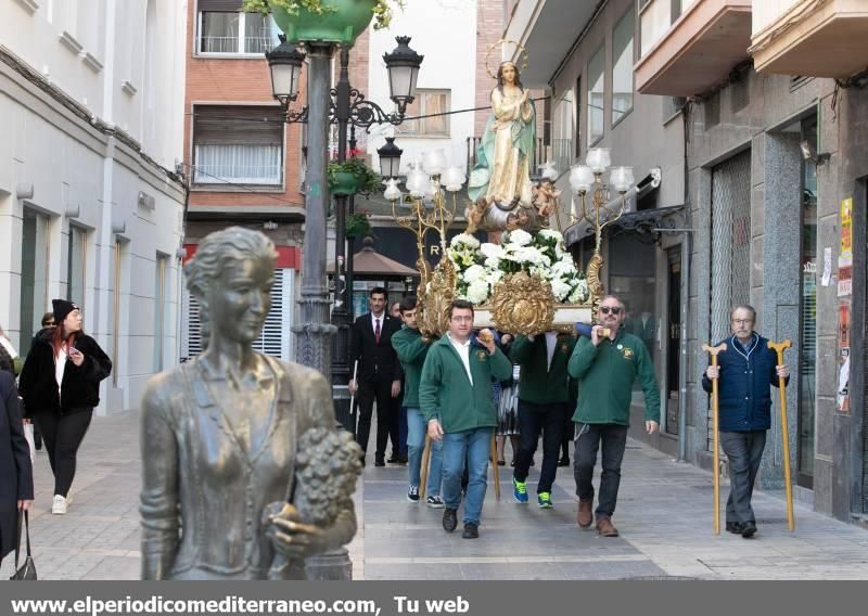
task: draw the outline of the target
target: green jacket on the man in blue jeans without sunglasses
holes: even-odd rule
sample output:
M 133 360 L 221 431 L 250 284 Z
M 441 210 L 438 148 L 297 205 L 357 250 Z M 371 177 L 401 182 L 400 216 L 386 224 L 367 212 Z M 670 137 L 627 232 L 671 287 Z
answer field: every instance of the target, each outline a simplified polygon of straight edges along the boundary
M 446 433 L 497 425 L 492 378 L 509 378 L 512 363 L 499 348 L 488 355 L 485 348 L 471 345 L 470 373 L 472 385 L 448 335 L 431 345 L 419 384 L 419 408 L 425 421 L 439 420 Z

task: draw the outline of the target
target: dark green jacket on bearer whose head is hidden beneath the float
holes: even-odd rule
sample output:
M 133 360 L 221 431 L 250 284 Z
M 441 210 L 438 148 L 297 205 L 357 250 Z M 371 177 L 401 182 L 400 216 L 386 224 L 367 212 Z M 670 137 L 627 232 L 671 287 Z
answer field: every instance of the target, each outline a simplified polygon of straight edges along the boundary
M 566 364 L 575 346 L 575 337 L 558 334 L 554 355 L 549 365 L 545 334 L 536 336 L 533 342 L 527 336 L 515 338 L 509 357 L 513 363 L 522 367 L 519 399 L 532 405 L 553 405 L 569 400 Z

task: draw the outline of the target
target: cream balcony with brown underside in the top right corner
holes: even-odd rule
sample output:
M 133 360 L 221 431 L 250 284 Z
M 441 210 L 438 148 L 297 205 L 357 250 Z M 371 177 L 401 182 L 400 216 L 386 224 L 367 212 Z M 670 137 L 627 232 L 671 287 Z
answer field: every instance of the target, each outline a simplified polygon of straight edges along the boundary
M 868 65 L 866 0 L 773 0 L 754 11 L 756 70 L 846 78 Z

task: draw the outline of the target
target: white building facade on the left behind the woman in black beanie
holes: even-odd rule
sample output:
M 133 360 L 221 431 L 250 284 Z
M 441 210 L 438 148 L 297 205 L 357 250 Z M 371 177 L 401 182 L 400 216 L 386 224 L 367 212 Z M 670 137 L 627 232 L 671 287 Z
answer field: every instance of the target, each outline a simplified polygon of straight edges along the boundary
M 0 0 L 0 323 L 51 299 L 112 358 L 99 414 L 177 362 L 186 2 Z

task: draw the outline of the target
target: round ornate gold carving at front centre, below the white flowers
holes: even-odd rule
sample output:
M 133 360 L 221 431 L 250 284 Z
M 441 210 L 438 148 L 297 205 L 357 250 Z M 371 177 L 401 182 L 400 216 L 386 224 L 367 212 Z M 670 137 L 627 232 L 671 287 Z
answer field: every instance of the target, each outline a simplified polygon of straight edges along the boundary
M 554 322 L 551 285 L 524 272 L 503 278 L 492 294 L 492 320 L 498 330 L 512 334 L 548 332 Z

